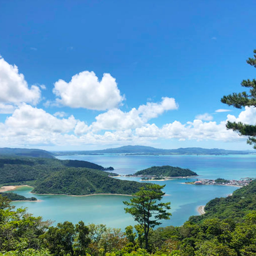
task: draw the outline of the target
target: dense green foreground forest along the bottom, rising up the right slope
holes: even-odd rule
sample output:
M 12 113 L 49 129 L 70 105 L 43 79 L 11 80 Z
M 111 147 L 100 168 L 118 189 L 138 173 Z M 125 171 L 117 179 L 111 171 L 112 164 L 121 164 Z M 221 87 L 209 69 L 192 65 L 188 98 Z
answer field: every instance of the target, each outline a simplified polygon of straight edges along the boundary
M 50 222 L 14 210 L 0 196 L 0 256 L 255 256 L 256 205 L 246 200 L 254 200 L 255 193 L 253 181 L 225 204 L 225 198 L 210 201 L 206 214 L 190 217 L 181 227 L 149 229 L 147 250 L 141 225 L 125 232 L 82 221 L 49 227 Z M 218 208 L 222 211 L 212 215 Z

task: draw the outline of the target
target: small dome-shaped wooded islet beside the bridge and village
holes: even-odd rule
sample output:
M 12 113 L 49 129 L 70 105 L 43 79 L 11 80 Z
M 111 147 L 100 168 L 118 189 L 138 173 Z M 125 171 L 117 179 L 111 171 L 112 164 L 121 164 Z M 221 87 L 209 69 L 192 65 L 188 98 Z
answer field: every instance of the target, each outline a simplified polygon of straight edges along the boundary
M 192 172 L 189 169 L 165 165 L 165 166 L 152 166 L 145 170 L 135 172 L 135 175 L 155 175 L 155 176 L 162 175 L 162 176 L 168 176 L 168 177 L 177 177 L 177 176 L 192 176 L 197 174 L 195 172 Z

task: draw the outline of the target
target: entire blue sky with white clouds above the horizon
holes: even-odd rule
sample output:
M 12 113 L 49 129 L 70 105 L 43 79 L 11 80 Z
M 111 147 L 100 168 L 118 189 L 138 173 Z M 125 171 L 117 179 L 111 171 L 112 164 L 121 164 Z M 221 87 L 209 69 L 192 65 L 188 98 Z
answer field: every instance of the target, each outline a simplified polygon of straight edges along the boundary
M 220 98 L 255 78 L 255 7 L 1 1 L 0 147 L 251 149 L 225 123 L 256 112 Z

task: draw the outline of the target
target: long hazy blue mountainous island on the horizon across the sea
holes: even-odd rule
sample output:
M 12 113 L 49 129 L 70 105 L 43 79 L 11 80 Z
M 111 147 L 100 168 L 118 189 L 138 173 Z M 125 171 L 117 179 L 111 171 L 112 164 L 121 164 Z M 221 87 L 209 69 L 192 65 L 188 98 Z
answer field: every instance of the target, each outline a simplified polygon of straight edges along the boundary
M 206 149 L 201 147 L 187 147 L 178 149 L 159 149 L 147 146 L 123 146 L 92 151 L 53 151 L 53 155 L 97 155 L 97 154 L 125 154 L 125 155 L 229 155 L 229 154 L 249 154 L 250 151 L 225 150 L 225 149 Z

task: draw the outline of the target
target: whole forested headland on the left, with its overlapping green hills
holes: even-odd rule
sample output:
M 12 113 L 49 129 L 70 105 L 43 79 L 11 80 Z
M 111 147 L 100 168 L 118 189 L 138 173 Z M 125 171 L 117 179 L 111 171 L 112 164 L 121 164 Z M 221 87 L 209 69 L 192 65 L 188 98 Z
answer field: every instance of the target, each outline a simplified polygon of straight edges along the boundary
M 143 186 L 135 181 L 110 178 L 111 173 L 97 168 L 105 170 L 86 161 L 1 157 L 0 184 L 27 184 L 34 186 L 36 193 L 68 195 L 133 194 Z

